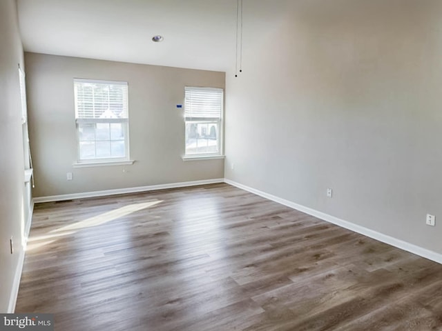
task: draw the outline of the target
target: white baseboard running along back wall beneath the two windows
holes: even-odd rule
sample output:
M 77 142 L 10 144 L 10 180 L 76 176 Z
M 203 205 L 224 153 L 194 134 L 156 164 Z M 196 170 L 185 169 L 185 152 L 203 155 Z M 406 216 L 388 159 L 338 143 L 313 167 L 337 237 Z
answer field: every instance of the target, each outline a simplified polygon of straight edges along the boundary
M 187 186 L 207 185 L 207 184 L 215 184 L 215 183 L 224 183 L 224 179 L 218 178 L 218 179 L 206 179 L 206 180 L 202 180 L 202 181 L 182 181 L 180 183 L 138 186 L 135 188 L 117 188 L 115 190 L 102 190 L 102 191 L 93 191 L 93 192 L 84 192 L 84 193 L 51 195 L 48 197 L 35 197 L 34 203 L 64 201 L 64 200 L 72 200 L 72 199 L 84 199 L 84 198 L 92 198 L 92 197 L 104 197 L 106 195 L 147 192 L 147 191 L 153 191 L 153 190 L 164 190 L 166 188 L 185 188 Z

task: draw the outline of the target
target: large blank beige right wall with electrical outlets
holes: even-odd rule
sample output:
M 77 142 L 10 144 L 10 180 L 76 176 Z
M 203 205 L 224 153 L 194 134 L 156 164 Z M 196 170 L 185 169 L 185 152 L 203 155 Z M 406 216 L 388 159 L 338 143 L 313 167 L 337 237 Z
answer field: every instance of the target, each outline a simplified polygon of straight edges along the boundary
M 226 178 L 442 253 L 442 1 L 250 7 Z

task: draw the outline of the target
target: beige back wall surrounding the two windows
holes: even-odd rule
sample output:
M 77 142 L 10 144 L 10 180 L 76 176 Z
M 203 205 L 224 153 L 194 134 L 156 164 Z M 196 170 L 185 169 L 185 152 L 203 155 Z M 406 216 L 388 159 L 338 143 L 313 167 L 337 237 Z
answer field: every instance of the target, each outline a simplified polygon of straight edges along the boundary
M 26 53 L 35 197 L 218 179 L 224 160 L 182 161 L 184 86 L 224 88 L 225 74 Z M 73 79 L 127 81 L 133 165 L 73 168 Z M 123 171 L 125 170 L 125 172 Z M 73 181 L 66 181 L 73 172 Z

